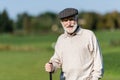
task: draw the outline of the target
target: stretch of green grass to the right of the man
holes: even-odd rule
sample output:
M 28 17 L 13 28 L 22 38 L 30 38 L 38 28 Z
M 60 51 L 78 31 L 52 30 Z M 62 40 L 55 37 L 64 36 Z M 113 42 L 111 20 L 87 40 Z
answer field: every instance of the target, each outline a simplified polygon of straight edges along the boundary
M 96 36 L 100 42 L 104 61 L 102 80 L 120 80 L 120 31 L 99 31 Z M 117 42 L 117 44 L 116 44 Z

